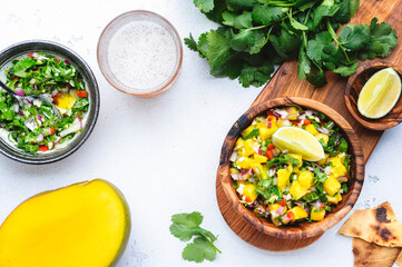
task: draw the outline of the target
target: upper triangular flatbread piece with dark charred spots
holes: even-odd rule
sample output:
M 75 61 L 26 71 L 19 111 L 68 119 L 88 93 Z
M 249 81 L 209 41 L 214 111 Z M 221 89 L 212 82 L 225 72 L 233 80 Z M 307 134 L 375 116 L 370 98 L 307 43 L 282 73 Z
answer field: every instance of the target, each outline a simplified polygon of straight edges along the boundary
M 355 210 L 337 233 L 384 247 L 402 247 L 402 222 L 389 202 L 373 209 Z

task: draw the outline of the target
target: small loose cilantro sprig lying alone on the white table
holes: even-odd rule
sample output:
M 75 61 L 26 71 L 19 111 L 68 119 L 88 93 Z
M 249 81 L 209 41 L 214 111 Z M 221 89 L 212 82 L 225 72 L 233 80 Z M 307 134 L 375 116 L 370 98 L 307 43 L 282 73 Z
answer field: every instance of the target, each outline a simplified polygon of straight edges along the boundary
M 177 214 L 171 216 L 170 234 L 188 244 L 183 250 L 183 258 L 188 261 L 202 263 L 204 259 L 214 260 L 216 251 L 220 250 L 215 247 L 216 237 L 208 230 L 202 228 L 203 215 L 194 211 L 192 214 Z

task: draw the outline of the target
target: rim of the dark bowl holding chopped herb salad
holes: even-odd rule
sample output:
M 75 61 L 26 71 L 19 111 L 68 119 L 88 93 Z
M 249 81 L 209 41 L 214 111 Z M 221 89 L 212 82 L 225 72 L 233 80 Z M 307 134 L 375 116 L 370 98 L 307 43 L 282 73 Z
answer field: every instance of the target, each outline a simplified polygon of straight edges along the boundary
M 36 46 L 47 46 L 49 47 L 49 49 L 36 49 L 35 47 Z M 70 149 L 66 149 L 66 151 L 63 154 L 60 154 L 60 155 L 56 155 L 55 157 L 51 157 L 51 158 L 38 158 L 38 159 L 33 159 L 33 158 L 30 158 L 30 159 L 27 159 L 27 158 L 21 158 L 19 156 L 14 156 L 14 155 L 11 155 L 9 152 L 7 152 L 6 150 L 3 150 L 3 148 L 0 146 L 0 152 L 4 156 L 7 156 L 8 158 L 10 159 L 13 159 L 16 161 L 19 161 L 19 162 L 22 162 L 22 164 L 29 164 L 29 165 L 45 165 L 45 164 L 52 164 L 52 162 L 56 162 L 56 161 L 59 161 L 61 159 L 65 159 L 67 158 L 68 156 L 70 156 L 71 154 L 73 154 L 75 151 L 77 151 L 82 145 L 84 142 L 88 139 L 88 137 L 90 136 L 90 134 L 92 132 L 94 128 L 95 128 L 95 125 L 98 120 L 98 116 L 99 116 L 99 108 L 100 108 L 100 93 L 99 93 L 99 87 L 98 87 L 98 82 L 96 80 L 96 77 L 92 72 L 92 70 L 90 69 L 89 65 L 77 53 L 75 52 L 72 49 L 63 46 L 63 44 L 60 44 L 58 42 L 55 42 L 55 41 L 49 41 L 49 40 L 41 40 L 41 39 L 32 39 L 32 40 L 26 40 L 26 41 L 20 41 L 20 42 L 17 42 L 17 43 L 13 43 L 9 47 L 7 47 L 6 49 L 1 50 L 0 51 L 0 58 L 2 58 L 4 55 L 7 53 L 12 53 L 13 50 L 16 49 L 19 49 L 19 48 L 23 48 L 23 47 L 27 47 L 27 50 L 45 50 L 45 51 L 48 51 L 51 53 L 51 48 L 57 48 L 58 50 L 62 51 L 62 52 L 55 52 L 57 55 L 60 55 L 60 53 L 67 53 L 69 55 L 68 56 L 68 59 L 71 60 L 72 62 L 78 62 L 84 71 L 86 72 L 86 75 L 88 76 L 88 80 L 87 82 L 91 82 L 91 87 L 94 88 L 94 93 L 91 93 L 91 101 L 92 101 L 92 105 L 90 107 L 92 107 L 94 109 L 94 118 L 89 121 L 87 121 L 87 123 L 89 125 L 88 126 L 88 130 L 87 131 L 81 131 L 80 134 L 80 140 L 75 145 L 72 146 Z M 31 47 L 31 48 L 29 48 Z M 63 56 L 63 55 L 60 55 L 60 56 Z M 66 56 L 63 56 L 66 57 Z M 12 60 L 12 57 L 10 57 L 9 59 L 7 59 L 7 61 L 9 60 Z M 18 150 L 16 150 L 18 151 Z M 20 152 L 20 151 L 18 151 Z

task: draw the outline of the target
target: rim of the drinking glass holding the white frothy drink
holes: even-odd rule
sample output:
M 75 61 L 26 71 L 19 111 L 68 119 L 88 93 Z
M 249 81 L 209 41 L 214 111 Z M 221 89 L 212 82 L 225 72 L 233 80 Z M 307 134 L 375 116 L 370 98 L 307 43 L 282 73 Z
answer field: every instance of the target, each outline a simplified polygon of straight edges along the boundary
M 148 89 L 129 88 L 128 86 L 124 85 L 122 82 L 119 82 L 117 79 L 114 79 L 112 77 L 110 77 L 109 73 L 105 69 L 106 67 L 102 65 L 104 60 L 102 60 L 102 56 L 100 53 L 101 46 L 105 42 L 105 36 L 108 32 L 109 28 L 114 23 L 116 23 L 118 20 L 124 19 L 129 16 L 141 16 L 141 14 L 150 16 L 154 19 L 161 21 L 165 27 L 169 28 L 173 31 L 173 34 L 170 34 L 170 36 L 175 41 L 176 49 L 178 50 L 177 63 L 171 72 L 171 75 L 163 83 L 160 83 L 154 88 L 148 88 Z M 107 23 L 107 26 L 104 28 L 104 30 L 100 33 L 99 39 L 98 39 L 97 60 L 98 60 L 98 66 L 99 66 L 99 69 L 101 71 L 102 76 L 109 82 L 109 85 L 111 85 L 115 89 L 117 89 L 124 93 L 128 93 L 128 95 L 137 96 L 137 97 L 155 97 L 155 96 L 158 96 L 158 95 L 165 92 L 166 90 L 168 90 L 176 82 L 178 75 L 180 73 L 182 65 L 183 65 L 183 44 L 182 44 L 180 34 L 178 33 L 177 29 L 171 24 L 171 22 L 169 20 L 167 20 L 165 17 L 163 17 L 156 12 L 153 12 L 149 10 L 143 10 L 143 9 L 130 10 L 130 11 L 124 12 L 121 14 L 118 14 L 117 17 L 111 19 Z M 118 85 L 115 82 L 115 80 L 118 82 Z M 119 86 L 121 86 L 122 88 L 120 88 Z M 135 91 L 130 91 L 130 90 L 135 90 Z

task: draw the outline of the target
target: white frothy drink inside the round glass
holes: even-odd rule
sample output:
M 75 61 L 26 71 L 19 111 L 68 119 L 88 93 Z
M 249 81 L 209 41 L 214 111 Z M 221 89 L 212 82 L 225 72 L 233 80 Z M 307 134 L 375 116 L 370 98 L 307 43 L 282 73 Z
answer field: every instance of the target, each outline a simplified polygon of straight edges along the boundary
M 110 71 L 121 83 L 150 89 L 168 80 L 175 70 L 175 40 L 151 21 L 131 21 L 117 29 L 107 50 Z

